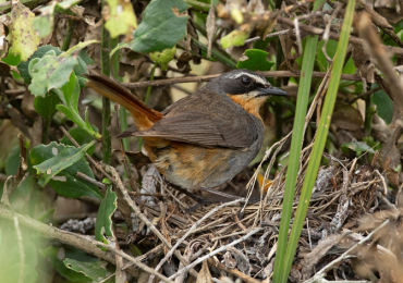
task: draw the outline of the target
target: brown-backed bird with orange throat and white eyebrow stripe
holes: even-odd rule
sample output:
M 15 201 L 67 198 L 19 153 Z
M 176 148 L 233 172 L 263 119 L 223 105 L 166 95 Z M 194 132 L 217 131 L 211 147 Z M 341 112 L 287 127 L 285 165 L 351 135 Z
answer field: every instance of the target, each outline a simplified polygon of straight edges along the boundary
M 143 137 L 157 170 L 191 193 L 218 187 L 252 162 L 264 140 L 259 108 L 269 96 L 288 95 L 255 72 L 233 70 L 158 112 L 105 75 L 87 78 L 87 87 L 131 112 L 131 135 Z

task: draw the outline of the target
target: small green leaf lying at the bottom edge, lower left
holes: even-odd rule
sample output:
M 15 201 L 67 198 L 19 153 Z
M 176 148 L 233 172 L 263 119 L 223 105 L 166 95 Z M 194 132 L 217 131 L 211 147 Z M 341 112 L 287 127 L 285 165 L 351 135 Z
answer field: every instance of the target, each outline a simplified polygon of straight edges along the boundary
M 105 269 L 105 262 L 101 261 L 78 261 L 75 259 L 66 258 L 63 260 L 64 266 L 68 269 L 74 270 L 75 272 L 83 273 L 85 276 L 99 282 L 107 276 Z

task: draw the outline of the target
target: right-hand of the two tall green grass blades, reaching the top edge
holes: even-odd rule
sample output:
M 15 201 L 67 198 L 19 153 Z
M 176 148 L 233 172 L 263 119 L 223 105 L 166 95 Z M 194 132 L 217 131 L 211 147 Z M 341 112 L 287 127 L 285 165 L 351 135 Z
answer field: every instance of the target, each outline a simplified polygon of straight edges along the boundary
M 304 225 L 306 211 L 308 209 L 310 200 L 312 189 L 315 185 L 315 181 L 318 174 L 320 160 L 325 148 L 325 143 L 329 132 L 331 115 L 333 113 L 334 102 L 339 89 L 340 76 L 343 70 L 345 59 L 345 51 L 349 45 L 350 30 L 353 23 L 354 8 L 355 0 L 350 0 L 347 3 L 343 27 L 340 35 L 338 51 L 333 60 L 333 73 L 330 78 L 328 93 L 326 95 L 323 109 L 319 121 L 318 132 L 316 134 L 316 140 L 314 144 L 308 168 L 306 170 L 307 174 L 305 176 L 305 181 L 301 192 L 301 198 L 298 207 L 296 209 L 294 224 L 291 230 L 290 242 L 285 251 L 283 269 L 281 270 L 281 274 L 279 275 L 279 281 L 274 281 L 276 283 L 286 282 L 288 280 L 291 270 L 291 264 L 294 259 L 296 246 L 300 239 L 301 231 Z

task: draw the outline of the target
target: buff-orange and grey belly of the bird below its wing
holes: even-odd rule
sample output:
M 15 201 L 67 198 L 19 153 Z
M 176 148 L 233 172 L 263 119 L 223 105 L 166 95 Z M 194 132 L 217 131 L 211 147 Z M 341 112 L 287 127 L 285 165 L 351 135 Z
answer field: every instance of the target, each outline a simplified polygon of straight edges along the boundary
M 188 190 L 217 187 L 230 181 L 255 158 L 259 143 L 246 149 L 205 148 L 173 142 L 169 147 L 146 151 L 169 182 Z

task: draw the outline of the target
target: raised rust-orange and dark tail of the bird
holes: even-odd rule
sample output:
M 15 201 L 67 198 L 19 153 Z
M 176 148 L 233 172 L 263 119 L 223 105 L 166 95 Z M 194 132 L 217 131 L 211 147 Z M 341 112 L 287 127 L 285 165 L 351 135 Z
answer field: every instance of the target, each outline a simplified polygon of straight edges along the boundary
M 138 100 L 131 91 L 105 75 L 87 75 L 87 87 L 93 88 L 105 97 L 118 102 L 127 109 L 139 131 L 150 128 L 155 122 L 162 119 L 162 114 Z

